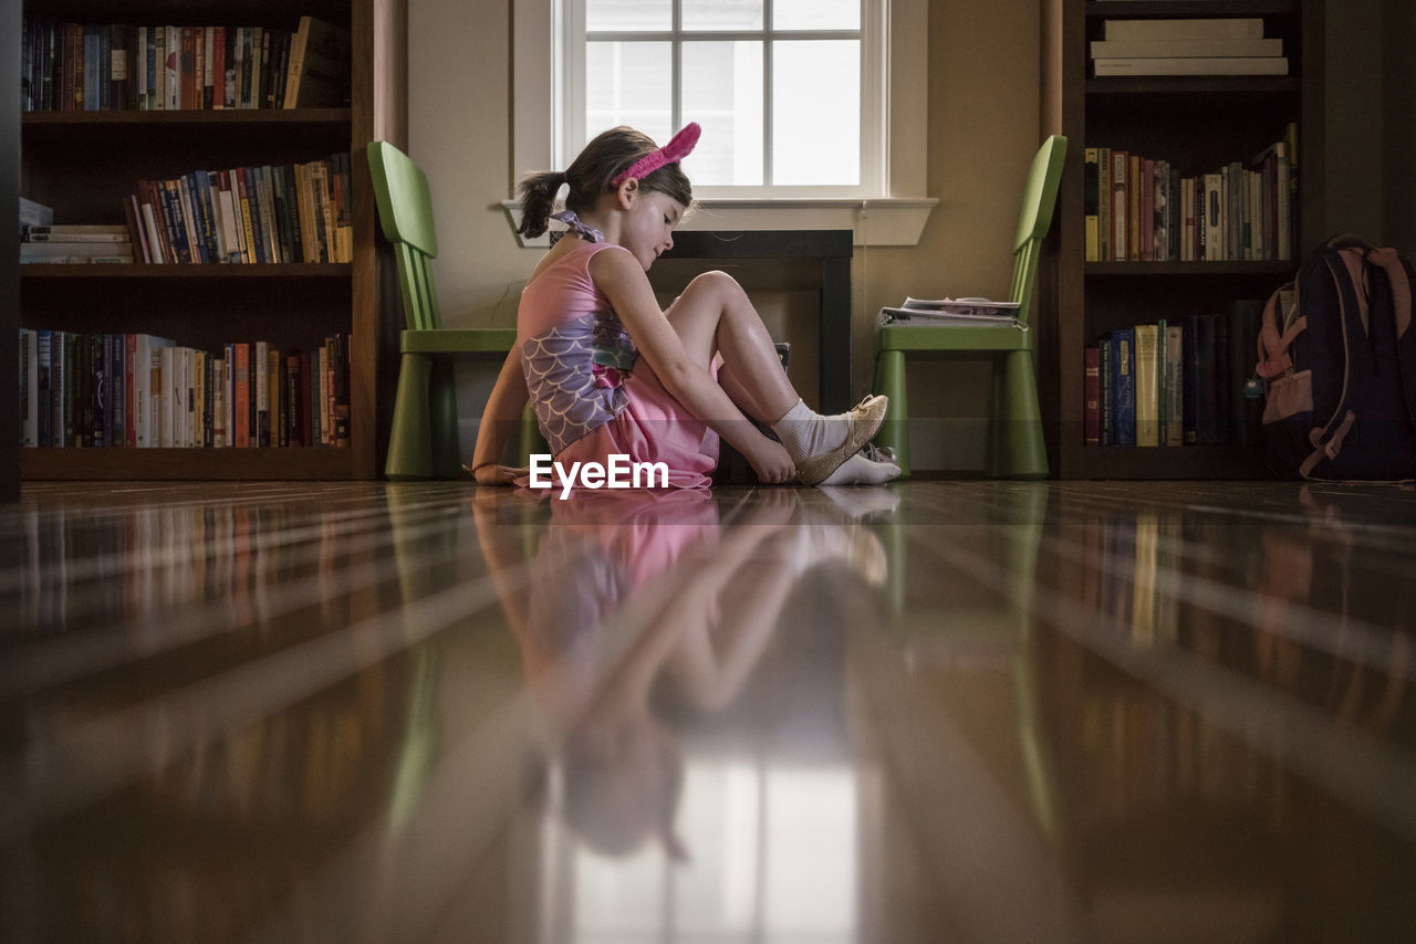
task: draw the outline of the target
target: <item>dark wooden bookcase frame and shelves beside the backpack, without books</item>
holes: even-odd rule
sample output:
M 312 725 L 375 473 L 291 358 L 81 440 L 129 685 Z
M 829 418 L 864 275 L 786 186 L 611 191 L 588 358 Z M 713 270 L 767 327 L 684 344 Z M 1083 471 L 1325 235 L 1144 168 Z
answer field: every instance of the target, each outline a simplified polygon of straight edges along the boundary
M 1092 78 L 1089 41 L 1107 18 L 1262 17 L 1283 38 L 1284 76 Z M 1039 293 L 1055 321 L 1044 337 L 1041 384 L 1054 467 L 1062 478 L 1266 477 L 1259 447 L 1086 446 L 1083 348 L 1104 331 L 1187 314 L 1226 313 L 1266 299 L 1321 243 L 1321 0 L 1045 0 L 1042 125 L 1069 139 Z M 1121 147 L 1181 164 L 1185 174 L 1245 160 L 1298 126 L 1297 245 L 1289 262 L 1086 262 L 1085 149 Z

